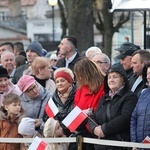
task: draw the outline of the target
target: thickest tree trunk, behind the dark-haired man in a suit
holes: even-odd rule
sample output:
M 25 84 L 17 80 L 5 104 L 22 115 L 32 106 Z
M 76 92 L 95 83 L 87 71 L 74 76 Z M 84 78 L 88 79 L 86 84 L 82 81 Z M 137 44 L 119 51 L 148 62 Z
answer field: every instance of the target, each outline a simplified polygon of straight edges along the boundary
M 81 53 L 94 45 L 92 0 L 69 0 L 67 15 L 69 35 L 77 38 Z

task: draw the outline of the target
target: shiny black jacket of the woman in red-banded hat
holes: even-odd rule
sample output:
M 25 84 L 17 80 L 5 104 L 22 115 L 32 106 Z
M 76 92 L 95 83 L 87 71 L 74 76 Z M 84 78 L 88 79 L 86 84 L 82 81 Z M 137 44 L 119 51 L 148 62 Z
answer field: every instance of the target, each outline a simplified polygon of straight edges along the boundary
M 55 91 L 54 95 L 52 96 L 52 99 L 55 103 L 55 105 L 58 107 L 59 113 L 55 116 L 55 119 L 58 120 L 64 129 L 64 132 L 67 136 L 69 136 L 70 132 L 69 130 L 61 123 L 62 120 L 71 112 L 71 110 L 74 108 L 74 95 L 76 92 L 76 86 L 73 85 L 73 89 L 71 90 L 66 103 L 63 104 L 58 96 L 57 90 Z M 46 113 L 44 113 L 43 120 L 46 122 L 48 119 L 48 116 Z

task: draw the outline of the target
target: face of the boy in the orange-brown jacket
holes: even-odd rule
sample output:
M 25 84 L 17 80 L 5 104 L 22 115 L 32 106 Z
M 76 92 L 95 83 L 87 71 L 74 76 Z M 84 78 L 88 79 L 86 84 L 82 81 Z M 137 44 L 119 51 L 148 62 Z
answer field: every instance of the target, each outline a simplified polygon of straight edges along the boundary
M 9 115 L 18 115 L 21 111 L 20 101 L 5 105 L 5 109 L 7 110 Z

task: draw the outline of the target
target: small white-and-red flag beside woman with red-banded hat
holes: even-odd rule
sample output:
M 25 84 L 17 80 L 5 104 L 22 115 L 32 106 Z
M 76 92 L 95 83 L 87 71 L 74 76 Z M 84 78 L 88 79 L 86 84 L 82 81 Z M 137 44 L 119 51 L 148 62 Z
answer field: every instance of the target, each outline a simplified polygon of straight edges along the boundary
M 53 102 L 52 98 L 50 98 L 50 100 L 48 101 L 45 107 L 45 111 L 49 117 L 53 117 L 53 118 L 58 114 L 59 110 L 55 105 L 55 103 Z

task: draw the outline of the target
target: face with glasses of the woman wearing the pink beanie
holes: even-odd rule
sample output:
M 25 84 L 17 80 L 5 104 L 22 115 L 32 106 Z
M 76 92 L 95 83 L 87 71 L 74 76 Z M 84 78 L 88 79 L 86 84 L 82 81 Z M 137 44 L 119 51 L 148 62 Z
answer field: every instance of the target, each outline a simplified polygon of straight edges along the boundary
M 25 91 L 26 95 L 31 98 L 36 98 L 40 94 L 40 88 L 37 83 L 33 83 L 29 88 Z

